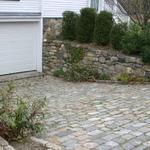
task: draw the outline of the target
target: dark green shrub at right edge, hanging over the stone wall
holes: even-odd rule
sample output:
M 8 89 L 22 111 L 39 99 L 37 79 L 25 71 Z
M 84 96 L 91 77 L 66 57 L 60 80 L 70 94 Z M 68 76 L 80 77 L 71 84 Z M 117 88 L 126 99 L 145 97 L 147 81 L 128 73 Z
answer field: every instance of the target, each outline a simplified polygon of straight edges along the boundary
M 141 57 L 144 63 L 150 64 L 150 46 L 143 47 Z

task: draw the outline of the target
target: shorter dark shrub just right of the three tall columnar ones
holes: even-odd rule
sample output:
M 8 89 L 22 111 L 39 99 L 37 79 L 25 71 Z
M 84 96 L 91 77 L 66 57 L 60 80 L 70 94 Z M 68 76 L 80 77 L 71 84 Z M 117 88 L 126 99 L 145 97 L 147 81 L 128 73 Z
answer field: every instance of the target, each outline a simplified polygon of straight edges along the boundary
M 112 27 L 110 34 L 110 43 L 112 47 L 116 50 L 122 49 L 122 38 L 125 36 L 127 30 L 127 24 L 115 24 Z

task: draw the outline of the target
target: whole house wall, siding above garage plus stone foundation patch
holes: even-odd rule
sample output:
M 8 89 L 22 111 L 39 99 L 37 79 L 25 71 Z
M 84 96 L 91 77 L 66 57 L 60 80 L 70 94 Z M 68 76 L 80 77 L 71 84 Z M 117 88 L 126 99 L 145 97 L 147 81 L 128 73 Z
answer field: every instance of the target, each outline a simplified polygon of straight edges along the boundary
M 22 18 L 41 13 L 44 25 L 44 40 L 57 39 L 62 29 L 62 13 L 66 10 L 79 13 L 81 8 L 87 7 L 89 0 L 20 0 L 0 1 L 0 16 L 11 13 Z

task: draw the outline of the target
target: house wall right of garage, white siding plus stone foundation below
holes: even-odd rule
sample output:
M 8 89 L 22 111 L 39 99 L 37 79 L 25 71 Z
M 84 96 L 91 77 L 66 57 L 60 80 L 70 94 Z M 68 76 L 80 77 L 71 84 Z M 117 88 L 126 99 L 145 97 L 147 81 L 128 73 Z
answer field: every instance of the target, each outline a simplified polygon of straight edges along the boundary
M 81 8 L 88 6 L 89 0 L 42 0 L 44 41 L 61 38 L 64 11 L 79 13 Z

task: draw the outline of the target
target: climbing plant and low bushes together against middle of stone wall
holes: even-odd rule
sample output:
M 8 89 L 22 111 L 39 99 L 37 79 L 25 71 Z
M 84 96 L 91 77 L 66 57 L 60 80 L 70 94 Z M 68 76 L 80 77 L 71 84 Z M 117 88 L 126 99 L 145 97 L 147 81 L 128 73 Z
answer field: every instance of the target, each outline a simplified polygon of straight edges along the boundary
M 97 70 L 89 65 L 83 65 L 84 50 L 80 47 L 72 47 L 65 45 L 67 51 L 67 68 L 64 72 L 63 69 L 56 70 L 53 75 L 56 77 L 63 77 L 67 81 L 84 82 L 95 80 L 110 80 L 107 74 L 99 74 Z

